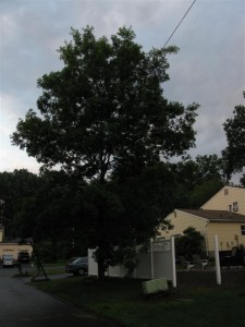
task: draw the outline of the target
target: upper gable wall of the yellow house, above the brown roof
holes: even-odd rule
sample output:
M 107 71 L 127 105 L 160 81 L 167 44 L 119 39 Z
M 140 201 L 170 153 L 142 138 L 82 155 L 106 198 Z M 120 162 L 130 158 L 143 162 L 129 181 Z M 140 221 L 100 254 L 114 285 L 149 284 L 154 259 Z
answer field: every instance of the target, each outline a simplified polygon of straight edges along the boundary
M 235 213 L 245 215 L 245 189 L 224 186 L 201 208 L 206 210 L 229 210 L 231 205 L 233 210 L 233 204 L 235 203 L 238 205 L 238 210 Z

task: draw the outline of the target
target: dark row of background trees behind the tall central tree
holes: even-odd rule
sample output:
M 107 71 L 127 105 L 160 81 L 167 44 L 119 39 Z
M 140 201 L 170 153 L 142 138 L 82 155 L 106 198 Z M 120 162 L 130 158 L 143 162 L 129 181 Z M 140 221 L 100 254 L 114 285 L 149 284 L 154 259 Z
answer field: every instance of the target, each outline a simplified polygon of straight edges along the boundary
M 156 228 L 164 225 L 171 210 L 198 208 L 223 185 L 222 160 L 216 155 L 159 162 L 140 177 L 120 184 L 111 179 L 102 187 L 59 171 L 14 170 L 0 173 L 1 222 L 7 240 L 32 237 L 53 261 L 83 255 L 96 244 L 99 210 L 106 216 L 105 239 L 126 243 L 135 229 L 144 241 L 147 220 L 158 222 Z

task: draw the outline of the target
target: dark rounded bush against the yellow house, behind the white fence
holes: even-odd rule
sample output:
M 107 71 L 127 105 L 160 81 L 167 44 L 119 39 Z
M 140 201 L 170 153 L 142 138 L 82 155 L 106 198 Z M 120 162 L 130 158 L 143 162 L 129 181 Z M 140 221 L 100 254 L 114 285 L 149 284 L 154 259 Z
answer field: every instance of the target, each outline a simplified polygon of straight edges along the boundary
M 175 239 L 176 257 L 182 255 L 192 261 L 194 254 L 201 255 L 204 241 L 204 237 L 194 227 L 186 228 L 183 235 Z

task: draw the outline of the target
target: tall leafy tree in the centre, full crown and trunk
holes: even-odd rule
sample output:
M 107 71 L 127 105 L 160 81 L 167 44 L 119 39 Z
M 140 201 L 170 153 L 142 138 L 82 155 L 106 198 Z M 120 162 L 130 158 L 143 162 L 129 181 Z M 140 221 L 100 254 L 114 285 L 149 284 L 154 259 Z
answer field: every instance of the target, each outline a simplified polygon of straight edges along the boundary
M 156 179 L 150 182 L 147 169 L 194 146 L 198 105 L 184 107 L 163 97 L 167 56 L 175 53 L 175 47 L 145 52 L 126 27 L 110 40 L 97 39 L 89 26 L 83 33 L 72 28 L 71 36 L 59 49 L 63 68 L 37 82 L 42 89 L 38 114 L 30 109 L 19 121 L 12 143 L 42 169 L 59 166 L 77 184 L 88 182 L 84 194 L 76 189 L 74 201 L 63 187 L 53 190 L 56 198 L 46 191 L 38 230 L 56 238 L 56 226 L 62 233 L 68 227 L 65 216 L 70 223 L 77 222 L 87 244 L 97 246 L 102 275 L 115 244 L 127 247 L 135 235 L 137 242 L 156 233 L 161 211 L 157 191 L 162 185 L 159 189 Z M 128 185 L 132 198 L 125 193 Z

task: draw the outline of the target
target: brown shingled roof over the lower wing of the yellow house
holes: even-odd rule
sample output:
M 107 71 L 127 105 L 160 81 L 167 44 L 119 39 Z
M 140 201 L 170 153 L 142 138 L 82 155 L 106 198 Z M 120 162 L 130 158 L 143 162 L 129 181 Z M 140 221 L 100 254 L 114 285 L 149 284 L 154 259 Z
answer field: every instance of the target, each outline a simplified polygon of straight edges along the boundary
M 180 211 L 191 214 L 200 218 L 208 219 L 213 222 L 245 222 L 245 215 L 230 213 L 226 210 L 193 210 L 193 209 L 179 209 Z

